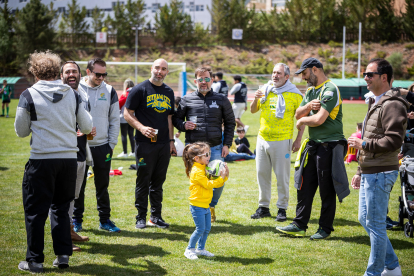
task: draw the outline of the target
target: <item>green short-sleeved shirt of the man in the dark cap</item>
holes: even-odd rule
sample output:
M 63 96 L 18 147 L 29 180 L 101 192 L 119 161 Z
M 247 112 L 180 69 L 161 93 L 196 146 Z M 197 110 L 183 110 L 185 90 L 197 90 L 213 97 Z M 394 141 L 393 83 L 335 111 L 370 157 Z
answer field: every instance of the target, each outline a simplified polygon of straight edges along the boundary
M 300 106 L 315 99 L 320 100 L 321 108 L 328 111 L 329 116 L 320 126 L 308 128 L 309 139 L 319 143 L 345 139 L 342 125 L 342 97 L 338 87 L 330 80 L 316 87 L 309 87 Z M 309 116 L 314 114 L 316 113 L 312 110 Z

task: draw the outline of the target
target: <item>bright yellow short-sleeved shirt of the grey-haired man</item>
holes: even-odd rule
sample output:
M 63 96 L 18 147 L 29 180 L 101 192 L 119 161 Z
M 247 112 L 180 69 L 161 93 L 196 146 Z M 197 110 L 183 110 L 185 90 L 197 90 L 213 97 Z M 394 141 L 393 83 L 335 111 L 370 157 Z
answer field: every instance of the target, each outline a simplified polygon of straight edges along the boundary
M 286 105 L 283 119 L 276 117 L 278 95 L 275 93 L 269 93 L 263 104 L 257 102 L 257 107 L 261 110 L 259 137 L 265 141 L 283 141 L 293 137 L 293 118 L 302 96 L 291 92 L 282 95 Z

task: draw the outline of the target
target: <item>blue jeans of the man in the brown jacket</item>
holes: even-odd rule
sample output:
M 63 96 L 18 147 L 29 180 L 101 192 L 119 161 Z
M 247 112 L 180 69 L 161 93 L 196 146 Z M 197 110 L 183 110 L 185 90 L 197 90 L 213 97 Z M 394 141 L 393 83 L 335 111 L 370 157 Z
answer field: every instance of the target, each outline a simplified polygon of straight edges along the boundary
M 381 275 L 384 267 L 394 269 L 399 266 L 385 222 L 390 192 L 397 177 L 398 171 L 361 175 L 358 220 L 371 241 L 366 276 Z

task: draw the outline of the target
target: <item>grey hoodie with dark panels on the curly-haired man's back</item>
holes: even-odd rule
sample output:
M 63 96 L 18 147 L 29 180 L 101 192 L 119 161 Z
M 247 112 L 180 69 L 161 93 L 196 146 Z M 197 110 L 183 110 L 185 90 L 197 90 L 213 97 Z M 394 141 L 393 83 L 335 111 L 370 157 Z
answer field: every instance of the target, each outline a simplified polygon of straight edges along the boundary
M 70 86 L 56 81 L 38 81 L 19 99 L 14 127 L 17 136 L 32 132 L 30 159 L 76 159 L 76 122 L 84 133 L 92 130 L 92 118 Z

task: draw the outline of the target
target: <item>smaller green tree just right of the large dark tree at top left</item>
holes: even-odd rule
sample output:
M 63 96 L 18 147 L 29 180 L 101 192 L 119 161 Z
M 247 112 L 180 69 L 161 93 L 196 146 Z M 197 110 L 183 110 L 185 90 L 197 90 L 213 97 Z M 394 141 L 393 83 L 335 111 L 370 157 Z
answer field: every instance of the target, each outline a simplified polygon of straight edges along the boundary
M 70 34 L 70 42 L 68 46 L 76 44 L 77 35 L 86 34 L 89 31 L 89 24 L 86 22 L 86 7 L 79 7 L 76 0 L 72 0 L 68 4 L 68 12 L 62 13 L 59 23 L 59 35 L 63 36 L 66 33 Z

